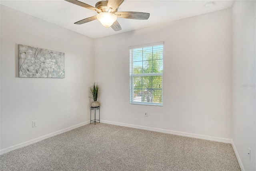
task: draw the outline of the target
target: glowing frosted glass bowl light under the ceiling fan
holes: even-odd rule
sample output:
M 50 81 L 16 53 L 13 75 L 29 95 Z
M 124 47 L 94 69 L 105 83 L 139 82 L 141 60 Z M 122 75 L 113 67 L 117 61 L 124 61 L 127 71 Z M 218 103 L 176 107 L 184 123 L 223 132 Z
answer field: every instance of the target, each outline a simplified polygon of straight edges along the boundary
M 110 12 L 99 13 L 96 17 L 100 21 L 100 23 L 106 28 L 109 28 L 110 26 L 112 26 L 112 24 L 117 19 L 117 16 Z

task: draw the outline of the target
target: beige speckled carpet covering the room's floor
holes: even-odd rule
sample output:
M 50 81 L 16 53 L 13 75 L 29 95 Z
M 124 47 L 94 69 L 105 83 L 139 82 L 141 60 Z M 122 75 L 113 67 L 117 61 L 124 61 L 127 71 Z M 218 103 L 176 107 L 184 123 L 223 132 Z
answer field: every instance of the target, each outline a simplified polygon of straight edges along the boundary
M 231 144 L 88 124 L 0 155 L 1 171 L 240 171 Z

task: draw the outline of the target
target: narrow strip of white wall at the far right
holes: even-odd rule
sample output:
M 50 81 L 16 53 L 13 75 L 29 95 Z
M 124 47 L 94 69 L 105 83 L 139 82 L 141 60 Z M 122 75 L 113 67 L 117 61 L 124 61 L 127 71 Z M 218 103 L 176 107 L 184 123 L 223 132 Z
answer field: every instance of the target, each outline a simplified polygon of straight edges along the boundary
M 246 171 L 256 170 L 256 2 L 235 1 L 232 7 L 233 92 L 232 139 Z M 251 149 L 251 160 L 248 155 Z

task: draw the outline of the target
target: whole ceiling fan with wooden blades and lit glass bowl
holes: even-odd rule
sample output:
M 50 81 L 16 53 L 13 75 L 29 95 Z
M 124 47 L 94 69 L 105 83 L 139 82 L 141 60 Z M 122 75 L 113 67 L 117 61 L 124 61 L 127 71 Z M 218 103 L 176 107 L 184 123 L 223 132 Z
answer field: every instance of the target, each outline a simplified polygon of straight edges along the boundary
M 95 7 L 85 4 L 84 2 L 80 2 L 78 0 L 65 0 L 72 4 L 76 4 L 78 6 L 82 6 L 89 10 L 94 10 L 98 13 L 97 16 L 92 16 L 89 18 L 85 18 L 74 24 L 84 24 L 87 22 L 91 22 L 93 20 L 98 19 L 100 23 L 106 28 L 110 27 L 114 29 L 114 31 L 121 30 L 120 24 L 117 22 L 117 18 L 128 18 L 128 19 L 136 19 L 136 20 L 147 20 L 150 16 L 149 13 L 145 12 L 118 12 L 118 7 L 124 2 L 124 0 L 102 0 L 95 4 Z

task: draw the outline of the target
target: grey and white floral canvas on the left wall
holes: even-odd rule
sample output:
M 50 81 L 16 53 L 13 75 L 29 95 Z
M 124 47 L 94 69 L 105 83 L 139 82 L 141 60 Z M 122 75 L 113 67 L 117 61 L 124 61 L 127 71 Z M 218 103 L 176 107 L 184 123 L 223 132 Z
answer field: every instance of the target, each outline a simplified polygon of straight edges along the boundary
M 18 45 L 19 77 L 65 78 L 64 53 Z

